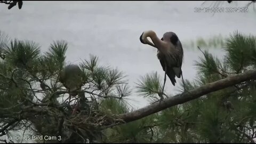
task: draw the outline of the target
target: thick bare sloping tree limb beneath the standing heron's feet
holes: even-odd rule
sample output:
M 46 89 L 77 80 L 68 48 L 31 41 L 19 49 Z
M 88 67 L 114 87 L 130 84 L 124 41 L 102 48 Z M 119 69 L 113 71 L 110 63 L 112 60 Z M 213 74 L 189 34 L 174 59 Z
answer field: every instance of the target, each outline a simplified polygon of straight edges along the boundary
M 161 103 L 156 102 L 147 107 L 132 111 L 130 113 L 119 115 L 120 119 L 123 119 L 124 122 L 132 122 L 140 118 L 149 116 L 151 114 L 157 113 L 166 108 L 170 108 L 181 103 L 185 103 L 190 100 L 202 97 L 205 94 L 225 89 L 229 86 L 234 86 L 235 84 L 248 81 L 250 79 L 256 78 L 256 70 L 248 70 L 245 73 L 229 76 L 227 78 L 221 79 L 219 81 L 208 83 L 203 86 L 200 86 L 194 90 L 190 90 L 183 94 L 177 94 L 173 97 L 164 99 Z

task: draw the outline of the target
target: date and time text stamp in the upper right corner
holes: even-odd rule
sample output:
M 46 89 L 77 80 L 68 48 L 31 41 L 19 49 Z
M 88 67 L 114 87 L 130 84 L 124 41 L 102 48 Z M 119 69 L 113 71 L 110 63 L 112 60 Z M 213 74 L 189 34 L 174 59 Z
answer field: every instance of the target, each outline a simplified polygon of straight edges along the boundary
M 248 7 L 194 7 L 195 13 L 246 13 Z

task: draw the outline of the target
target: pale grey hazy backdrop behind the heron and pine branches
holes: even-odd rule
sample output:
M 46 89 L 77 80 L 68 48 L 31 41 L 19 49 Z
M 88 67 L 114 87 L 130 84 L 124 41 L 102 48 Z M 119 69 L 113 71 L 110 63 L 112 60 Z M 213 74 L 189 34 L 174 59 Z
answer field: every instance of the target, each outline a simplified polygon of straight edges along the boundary
M 248 13 L 195 13 L 195 7 L 210 7 L 211 2 L 28 2 L 22 9 L 17 6 L 7 10 L 0 4 L 0 30 L 12 38 L 29 39 L 41 45 L 44 52 L 50 43 L 63 39 L 69 43 L 67 60 L 72 63 L 97 55 L 100 62 L 117 67 L 129 76 L 131 86 L 140 76 L 157 71 L 164 72 L 156 57 L 156 50 L 139 41 L 142 31 L 154 30 L 158 37 L 166 31 L 173 31 L 181 43 L 198 36 L 227 36 L 235 30 L 256 34 L 255 13 L 249 7 Z M 227 2 L 221 7 L 243 7 L 247 2 Z M 253 31 L 254 30 L 254 31 Z M 194 60 L 201 55 L 183 47 L 185 62 L 183 76 L 193 79 L 196 74 Z M 211 50 L 219 57 L 222 50 Z M 178 81 L 180 82 L 180 80 Z M 167 79 L 168 92 L 175 93 Z M 133 97 L 136 107 L 148 103 L 141 97 Z M 28 142 L 28 141 L 27 141 Z

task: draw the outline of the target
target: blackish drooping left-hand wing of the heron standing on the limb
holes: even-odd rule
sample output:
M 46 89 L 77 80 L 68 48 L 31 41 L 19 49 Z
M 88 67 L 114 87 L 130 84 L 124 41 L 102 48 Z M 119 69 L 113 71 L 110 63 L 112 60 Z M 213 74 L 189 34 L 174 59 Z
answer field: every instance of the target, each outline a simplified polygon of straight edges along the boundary
M 164 63 L 164 55 L 157 51 L 157 58 L 159 59 L 162 67 L 163 67 L 163 70 L 165 71 L 165 63 Z M 174 69 L 173 67 L 170 67 L 167 65 L 167 70 L 166 70 L 166 75 L 170 78 L 172 84 L 175 86 L 175 83 L 176 83 L 176 80 L 175 80 L 175 72 L 174 72 Z

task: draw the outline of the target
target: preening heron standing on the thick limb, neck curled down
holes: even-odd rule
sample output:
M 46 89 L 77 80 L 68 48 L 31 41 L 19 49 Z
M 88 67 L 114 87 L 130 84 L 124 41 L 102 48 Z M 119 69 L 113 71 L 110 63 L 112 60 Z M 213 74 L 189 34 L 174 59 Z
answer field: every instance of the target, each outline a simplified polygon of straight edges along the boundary
M 152 42 L 148 41 L 147 37 L 150 37 Z M 144 31 L 140 36 L 140 42 L 143 44 L 149 44 L 156 47 L 157 57 L 165 71 L 164 85 L 166 82 L 166 74 L 170 78 L 172 84 L 175 86 L 175 76 L 182 77 L 182 61 L 183 61 L 183 49 L 178 36 L 173 32 L 164 33 L 163 37 L 159 39 L 153 30 Z M 164 91 L 163 85 L 163 91 Z M 163 93 L 162 93 L 163 94 Z

